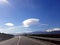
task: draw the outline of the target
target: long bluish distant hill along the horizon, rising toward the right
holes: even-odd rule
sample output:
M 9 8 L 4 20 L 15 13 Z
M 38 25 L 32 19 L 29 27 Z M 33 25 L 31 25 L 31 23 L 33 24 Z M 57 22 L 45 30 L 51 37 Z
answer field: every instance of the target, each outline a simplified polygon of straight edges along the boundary
M 60 34 L 60 31 L 52 31 L 52 32 L 47 32 L 47 31 L 35 31 L 35 32 L 30 32 L 30 33 L 21 33 L 21 34 L 15 34 L 16 36 L 23 36 L 27 34 Z

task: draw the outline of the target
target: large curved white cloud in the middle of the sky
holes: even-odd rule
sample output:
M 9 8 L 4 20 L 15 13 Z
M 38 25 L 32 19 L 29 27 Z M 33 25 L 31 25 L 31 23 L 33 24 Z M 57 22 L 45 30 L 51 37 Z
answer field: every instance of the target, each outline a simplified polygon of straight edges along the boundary
M 24 27 L 30 27 L 31 25 L 36 25 L 38 23 L 39 23 L 39 19 L 30 18 L 30 19 L 27 19 L 27 20 L 23 21 L 23 26 Z

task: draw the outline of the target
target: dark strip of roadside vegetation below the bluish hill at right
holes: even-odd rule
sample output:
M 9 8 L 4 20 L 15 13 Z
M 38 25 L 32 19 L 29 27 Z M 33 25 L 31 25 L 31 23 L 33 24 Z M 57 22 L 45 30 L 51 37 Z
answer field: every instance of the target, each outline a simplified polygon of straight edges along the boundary
M 25 36 L 60 38 L 60 34 L 26 34 Z

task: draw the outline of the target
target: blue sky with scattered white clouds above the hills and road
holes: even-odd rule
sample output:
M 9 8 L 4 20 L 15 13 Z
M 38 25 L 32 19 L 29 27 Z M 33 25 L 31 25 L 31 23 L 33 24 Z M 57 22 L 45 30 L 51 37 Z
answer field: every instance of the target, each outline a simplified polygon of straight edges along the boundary
M 60 0 L 0 0 L 0 32 L 60 30 Z

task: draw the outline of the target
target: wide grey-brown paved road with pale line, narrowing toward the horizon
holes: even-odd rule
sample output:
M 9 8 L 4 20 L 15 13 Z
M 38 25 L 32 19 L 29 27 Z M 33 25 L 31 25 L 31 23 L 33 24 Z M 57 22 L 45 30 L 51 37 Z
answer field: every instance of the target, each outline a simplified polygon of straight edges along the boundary
M 56 45 L 56 44 L 28 38 L 25 36 L 16 36 L 12 39 L 0 42 L 0 45 Z

